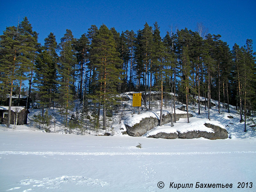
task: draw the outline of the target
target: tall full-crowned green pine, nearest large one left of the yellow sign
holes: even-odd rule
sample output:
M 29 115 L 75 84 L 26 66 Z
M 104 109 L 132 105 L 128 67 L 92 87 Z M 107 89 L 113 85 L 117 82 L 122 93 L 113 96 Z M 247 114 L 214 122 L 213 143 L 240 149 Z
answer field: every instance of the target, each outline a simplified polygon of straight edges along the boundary
M 103 129 L 106 129 L 107 105 L 113 103 L 113 96 L 117 93 L 116 86 L 121 83 L 119 53 L 116 51 L 113 34 L 102 25 L 99 34 L 92 39 L 91 58 L 98 76 L 99 108 L 103 104 Z

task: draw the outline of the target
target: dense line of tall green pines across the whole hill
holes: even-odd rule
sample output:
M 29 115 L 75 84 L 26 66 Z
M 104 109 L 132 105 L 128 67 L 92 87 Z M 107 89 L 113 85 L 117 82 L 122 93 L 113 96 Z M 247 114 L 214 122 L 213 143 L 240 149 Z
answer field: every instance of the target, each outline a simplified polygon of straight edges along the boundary
M 120 100 L 118 93 L 143 92 L 145 104 L 149 101 L 145 107 L 151 109 L 151 92 L 160 91 L 162 113 L 164 94 L 172 92 L 174 113 L 175 100 L 180 100 L 186 104 L 187 113 L 189 103 L 198 105 L 198 114 L 208 108 L 210 119 L 214 99 L 219 113 L 220 102 L 228 104 L 228 112 L 229 104 L 236 106 L 246 131 L 246 116 L 256 107 L 252 40 L 247 39 L 244 46 L 235 44 L 230 50 L 220 35 L 206 34 L 202 29 L 202 25 L 198 31 L 176 29 L 162 38 L 157 22 L 153 27 L 146 22 L 137 33 L 126 30 L 121 34 L 104 24 L 100 28 L 92 25 L 79 39 L 67 29 L 60 44 L 50 33 L 41 45 L 25 17 L 0 36 L 1 99 L 10 95 L 10 111 L 12 95 L 20 97 L 23 82 L 28 80 L 27 108 L 31 100 L 40 100 L 43 116 L 44 108 L 58 107 L 68 126 L 73 101 L 80 99 L 88 112 L 92 110 L 88 108 L 90 100 L 98 122 L 102 109 L 106 129 L 106 117 L 113 114 Z

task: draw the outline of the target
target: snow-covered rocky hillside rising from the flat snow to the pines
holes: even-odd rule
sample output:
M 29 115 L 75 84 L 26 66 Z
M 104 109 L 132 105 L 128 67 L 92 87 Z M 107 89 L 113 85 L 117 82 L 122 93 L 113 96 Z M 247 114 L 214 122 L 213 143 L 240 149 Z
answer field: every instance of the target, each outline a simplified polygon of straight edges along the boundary
M 120 101 L 120 110 L 115 111 L 112 117 L 107 118 L 107 129 L 102 130 L 93 129 L 91 126 L 92 114 L 90 115 L 91 120 L 87 120 L 87 124 L 83 124 L 82 128 L 74 128 L 71 130 L 72 134 L 85 134 L 85 135 L 108 135 L 112 136 L 123 136 L 126 134 L 126 127 L 125 125 L 132 126 L 134 124 L 139 123 L 143 118 L 147 117 L 155 117 L 159 119 L 160 116 L 160 108 L 159 108 L 159 100 L 153 99 L 151 102 L 152 109 L 146 110 L 142 104 L 142 108 L 140 110 L 140 115 L 138 115 L 138 107 L 135 109 L 135 114 L 133 114 L 133 107 L 132 107 L 132 93 L 134 92 L 125 92 L 119 95 L 123 101 Z M 153 98 L 157 98 L 158 92 L 153 92 Z M 171 95 L 171 93 L 169 93 Z M 204 103 L 205 98 L 200 97 L 202 103 Z M 207 100 L 207 99 L 206 99 Z M 222 128 L 225 128 L 228 131 L 228 138 L 256 138 L 256 131 L 253 125 L 255 125 L 255 118 L 250 117 L 248 118 L 247 123 L 247 132 L 244 132 L 244 122 L 240 123 L 239 120 L 239 112 L 236 111 L 235 106 L 229 106 L 230 113 L 227 113 L 227 104 L 221 103 L 220 113 L 218 113 L 218 101 L 211 100 L 212 108 L 210 109 L 210 121 L 208 120 L 208 108 L 204 110 L 204 105 L 201 104 L 201 115 L 198 115 L 198 105 L 189 105 L 189 113 L 193 115 L 193 117 L 189 118 L 190 123 L 187 123 L 187 119 L 180 118 L 179 121 L 174 123 L 174 126 L 171 126 L 171 123 L 164 124 L 163 126 L 156 126 L 147 134 L 143 135 L 144 137 L 150 136 L 152 134 L 157 134 L 158 132 L 187 132 L 187 131 L 208 131 L 211 132 L 209 128 L 206 128 L 204 123 L 210 123 L 218 125 Z M 167 107 L 163 107 L 163 115 L 169 114 L 173 112 L 173 108 L 171 108 L 171 100 L 166 101 Z M 90 105 L 90 104 L 89 104 Z M 147 101 L 148 106 L 148 101 Z M 178 108 L 181 107 L 180 102 L 176 102 L 176 114 L 185 114 L 186 111 L 179 110 Z M 82 104 L 78 100 L 76 100 L 74 111 L 70 111 L 69 113 L 72 114 L 76 112 L 76 108 L 78 112 L 82 110 Z M 28 115 L 28 125 L 18 125 L 17 130 L 33 130 L 33 131 L 44 131 L 42 130 L 42 126 L 39 129 L 38 124 L 34 121 L 34 115 L 38 115 L 41 113 L 41 109 L 29 109 L 30 114 Z M 69 128 L 63 126 L 63 118 L 60 116 L 60 112 L 58 109 L 50 109 L 49 115 L 52 115 L 51 124 L 49 125 L 49 130 L 51 132 L 56 133 L 68 133 Z M 81 116 L 81 113 L 79 113 Z M 70 116 L 69 116 L 70 117 Z M 229 118 L 233 117 L 233 118 Z M 102 111 L 100 111 L 100 125 L 102 120 Z M 252 127 L 250 127 L 250 125 Z M 5 125 L 1 124 L 1 129 L 5 130 Z M 13 125 L 11 125 L 12 127 Z

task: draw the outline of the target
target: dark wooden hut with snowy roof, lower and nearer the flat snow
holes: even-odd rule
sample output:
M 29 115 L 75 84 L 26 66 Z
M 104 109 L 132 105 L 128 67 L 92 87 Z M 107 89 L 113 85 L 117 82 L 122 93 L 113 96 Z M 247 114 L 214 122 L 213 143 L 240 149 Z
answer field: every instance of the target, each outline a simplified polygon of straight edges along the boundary
M 8 106 L 0 106 L 0 118 L 2 124 L 7 124 L 8 121 Z M 28 110 L 25 107 L 13 106 L 11 108 L 11 124 L 16 121 L 17 125 L 27 124 L 28 122 Z

